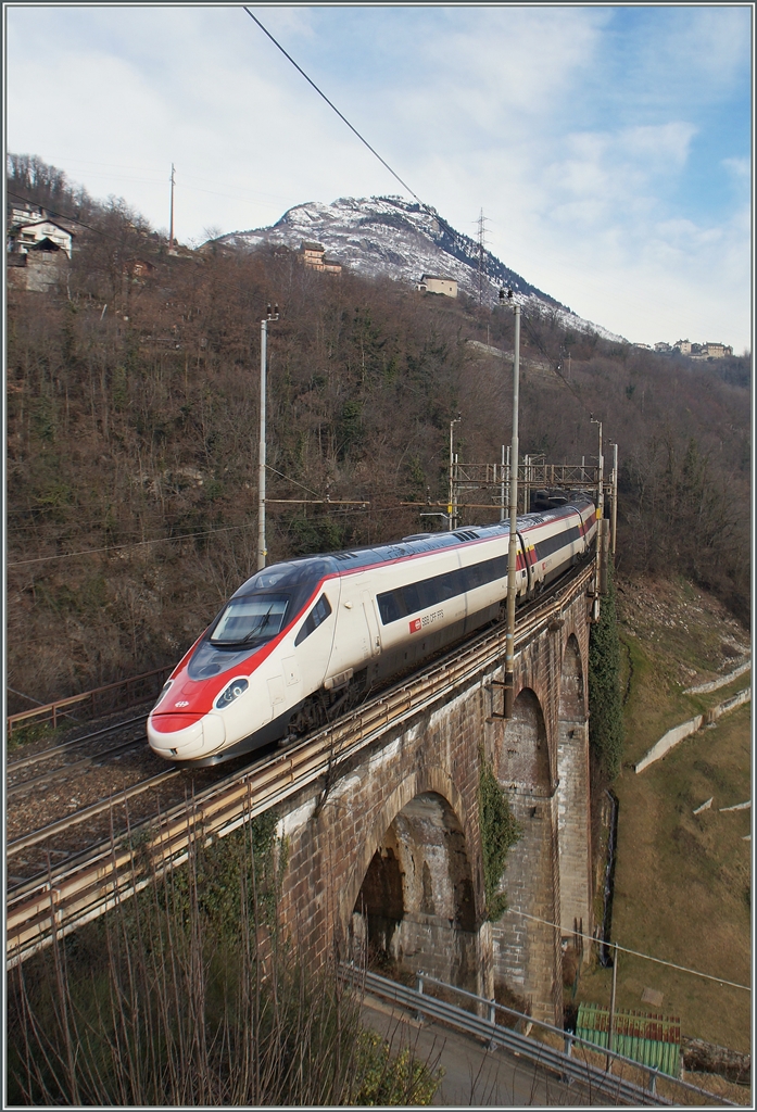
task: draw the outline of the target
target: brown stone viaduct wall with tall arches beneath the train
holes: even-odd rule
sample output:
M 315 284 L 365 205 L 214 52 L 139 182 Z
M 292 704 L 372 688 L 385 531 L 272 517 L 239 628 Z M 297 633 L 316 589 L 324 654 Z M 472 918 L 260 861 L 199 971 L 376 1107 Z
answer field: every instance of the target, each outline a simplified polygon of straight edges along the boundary
M 507 987 L 537 1019 L 562 1021 L 561 941 L 591 933 L 586 586 L 521 647 L 515 704 L 501 663 L 388 731 L 327 792 L 280 808 L 285 927 L 316 961 L 356 942 L 488 999 Z M 484 752 L 522 827 L 485 912 L 479 823 Z M 549 924 L 559 924 L 555 929 Z

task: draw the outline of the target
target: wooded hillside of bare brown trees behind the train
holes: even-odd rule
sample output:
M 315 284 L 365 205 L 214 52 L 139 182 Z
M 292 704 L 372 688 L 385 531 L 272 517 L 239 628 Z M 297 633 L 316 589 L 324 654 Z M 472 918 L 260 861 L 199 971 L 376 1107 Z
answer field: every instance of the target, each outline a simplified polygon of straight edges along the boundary
M 12 688 L 46 701 L 173 663 L 255 570 L 269 302 L 268 496 L 370 503 L 271 506 L 270 559 L 428 527 L 399 504 L 446 498 L 458 413 L 460 458 L 499 460 L 510 363 L 466 340 L 510 350 L 509 310 L 313 272 L 286 249 L 172 256 L 123 202 L 64 179 L 36 195 L 23 169 L 16 195 L 88 227 L 58 294 L 9 292 Z M 522 453 L 588 460 L 590 413 L 619 445 L 619 570 L 685 574 L 746 619 L 748 361 L 673 360 L 546 317 L 524 321 L 522 356 Z

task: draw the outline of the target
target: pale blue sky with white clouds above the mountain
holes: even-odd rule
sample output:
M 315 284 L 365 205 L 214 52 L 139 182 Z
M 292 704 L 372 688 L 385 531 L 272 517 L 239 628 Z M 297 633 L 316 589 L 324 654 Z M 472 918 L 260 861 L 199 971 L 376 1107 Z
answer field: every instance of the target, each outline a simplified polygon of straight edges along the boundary
M 750 4 L 251 4 L 400 178 L 634 342 L 751 349 Z M 6 150 L 197 246 L 406 193 L 239 6 L 13 4 Z

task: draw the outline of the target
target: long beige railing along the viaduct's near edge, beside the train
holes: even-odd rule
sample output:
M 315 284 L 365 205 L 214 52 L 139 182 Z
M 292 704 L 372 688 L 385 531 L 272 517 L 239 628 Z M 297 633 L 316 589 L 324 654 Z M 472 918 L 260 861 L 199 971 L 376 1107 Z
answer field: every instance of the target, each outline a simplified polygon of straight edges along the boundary
M 592 562 L 534 605 L 519 622 L 516 649 L 522 649 L 547 627 L 587 589 L 594 576 Z M 130 834 L 93 847 L 74 866 L 66 868 L 63 863 L 32 890 L 24 888 L 18 896 L 9 893 L 8 964 L 23 961 L 48 945 L 53 933 L 68 934 L 182 864 L 192 841 L 225 837 L 318 780 L 327 791 L 335 771 L 387 729 L 496 667 L 504 657 L 505 639 L 501 626 L 479 634 L 318 734 L 232 774 L 191 801 L 133 827 Z

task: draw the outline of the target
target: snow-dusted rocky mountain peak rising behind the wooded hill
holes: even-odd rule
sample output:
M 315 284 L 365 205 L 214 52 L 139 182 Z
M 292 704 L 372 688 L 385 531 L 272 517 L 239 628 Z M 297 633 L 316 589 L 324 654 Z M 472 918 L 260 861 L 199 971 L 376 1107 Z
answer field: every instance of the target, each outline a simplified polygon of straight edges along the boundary
M 233 231 L 215 242 L 248 249 L 283 245 L 299 250 L 303 240 L 321 244 L 327 257 L 366 277 L 387 275 L 396 281 L 415 285 L 425 274 L 448 276 L 457 279 L 460 290 L 478 299 L 478 244 L 456 231 L 436 209 L 401 197 L 340 197 L 331 205 L 309 201 L 289 209 L 270 228 Z M 555 312 L 566 327 L 596 331 L 606 339 L 622 339 L 578 317 L 485 250 L 485 304 L 496 304 L 502 286 L 511 288 L 517 300 L 530 311 Z

